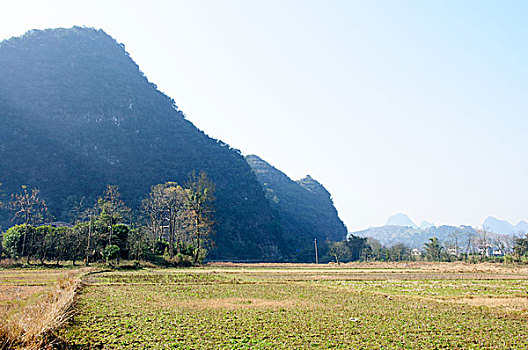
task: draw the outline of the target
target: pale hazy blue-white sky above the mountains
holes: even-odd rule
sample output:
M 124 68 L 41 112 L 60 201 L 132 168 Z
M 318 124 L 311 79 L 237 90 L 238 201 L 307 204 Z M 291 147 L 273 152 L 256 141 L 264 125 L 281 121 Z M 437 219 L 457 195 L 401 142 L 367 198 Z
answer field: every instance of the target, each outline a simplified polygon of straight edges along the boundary
M 104 29 L 188 119 L 332 193 L 350 231 L 528 219 L 526 1 L 9 1 Z

